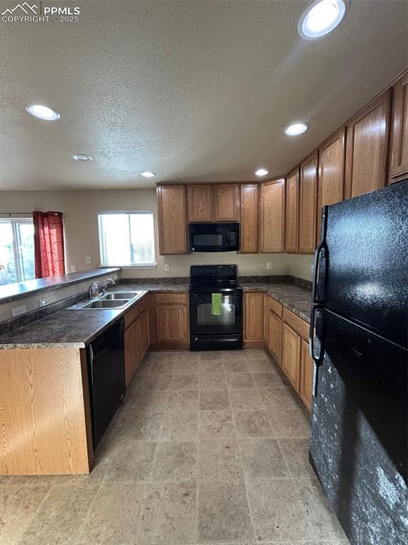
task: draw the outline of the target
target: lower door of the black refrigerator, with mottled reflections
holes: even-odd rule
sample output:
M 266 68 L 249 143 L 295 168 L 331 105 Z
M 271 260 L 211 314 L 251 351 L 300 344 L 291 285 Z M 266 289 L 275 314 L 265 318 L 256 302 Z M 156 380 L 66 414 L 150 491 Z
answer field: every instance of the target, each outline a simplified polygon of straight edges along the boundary
M 329 311 L 316 329 L 311 464 L 351 544 L 408 544 L 408 353 Z

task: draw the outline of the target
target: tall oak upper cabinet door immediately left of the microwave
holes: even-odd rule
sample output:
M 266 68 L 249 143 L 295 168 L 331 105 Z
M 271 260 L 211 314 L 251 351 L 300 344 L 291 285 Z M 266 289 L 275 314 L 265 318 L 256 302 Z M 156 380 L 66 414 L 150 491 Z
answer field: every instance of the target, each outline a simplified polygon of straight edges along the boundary
M 158 187 L 160 254 L 187 253 L 185 185 Z

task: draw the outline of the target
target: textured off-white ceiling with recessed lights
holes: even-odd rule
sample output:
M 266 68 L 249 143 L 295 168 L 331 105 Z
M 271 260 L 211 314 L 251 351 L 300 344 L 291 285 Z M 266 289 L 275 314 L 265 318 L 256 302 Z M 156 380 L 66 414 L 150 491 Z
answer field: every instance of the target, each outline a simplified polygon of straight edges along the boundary
M 0 23 L 0 189 L 285 174 L 408 64 L 404 0 L 351 0 L 313 41 L 297 33 L 308 1 L 54 4 L 80 6 L 79 22 Z M 60 121 L 29 116 L 31 102 Z M 297 120 L 309 131 L 285 136 Z

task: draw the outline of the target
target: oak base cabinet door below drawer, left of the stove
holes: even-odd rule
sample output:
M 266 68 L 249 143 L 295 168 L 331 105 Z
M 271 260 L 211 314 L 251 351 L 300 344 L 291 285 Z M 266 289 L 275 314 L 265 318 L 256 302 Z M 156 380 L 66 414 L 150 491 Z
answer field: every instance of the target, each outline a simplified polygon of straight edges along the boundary
M 188 307 L 186 304 L 156 305 L 158 343 L 189 341 Z

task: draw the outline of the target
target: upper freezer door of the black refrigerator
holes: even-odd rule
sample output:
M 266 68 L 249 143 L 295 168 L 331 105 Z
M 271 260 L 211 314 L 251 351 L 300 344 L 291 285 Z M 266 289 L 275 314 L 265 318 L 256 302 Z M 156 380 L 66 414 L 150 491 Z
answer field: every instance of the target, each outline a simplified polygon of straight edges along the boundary
M 408 180 L 324 210 L 317 299 L 407 347 Z

